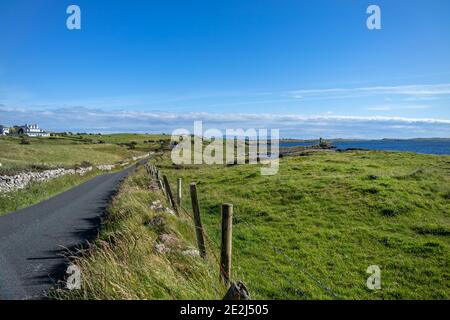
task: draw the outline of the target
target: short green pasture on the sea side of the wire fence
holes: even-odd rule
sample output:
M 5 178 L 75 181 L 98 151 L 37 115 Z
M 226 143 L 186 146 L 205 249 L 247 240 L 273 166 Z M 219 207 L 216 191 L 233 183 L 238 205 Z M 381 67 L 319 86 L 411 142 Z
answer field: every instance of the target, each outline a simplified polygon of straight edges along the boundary
M 275 176 L 158 165 L 183 179 L 186 207 L 187 183 L 198 183 L 216 243 L 220 204 L 234 204 L 233 277 L 254 298 L 450 298 L 448 156 L 315 152 L 281 159 Z M 381 268 L 382 290 L 366 287 L 370 265 Z

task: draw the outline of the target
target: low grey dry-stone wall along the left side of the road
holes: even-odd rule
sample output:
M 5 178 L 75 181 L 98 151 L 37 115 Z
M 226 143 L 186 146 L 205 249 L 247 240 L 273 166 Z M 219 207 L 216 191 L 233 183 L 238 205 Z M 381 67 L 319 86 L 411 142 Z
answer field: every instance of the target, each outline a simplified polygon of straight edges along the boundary
M 83 176 L 90 171 L 92 171 L 92 167 L 75 169 L 60 168 L 40 172 L 22 172 L 14 176 L 0 176 L 0 193 L 24 189 L 33 181 L 47 181 L 66 174 L 79 174 Z

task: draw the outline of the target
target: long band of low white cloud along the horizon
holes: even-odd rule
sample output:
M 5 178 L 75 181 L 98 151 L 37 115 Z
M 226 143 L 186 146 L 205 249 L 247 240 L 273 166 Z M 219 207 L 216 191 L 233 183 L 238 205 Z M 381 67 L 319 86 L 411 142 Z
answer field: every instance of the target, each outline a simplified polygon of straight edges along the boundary
M 161 111 L 104 111 L 83 107 L 26 109 L 0 105 L 1 124 L 39 123 L 54 131 L 170 133 L 192 128 L 202 120 L 206 128 L 277 128 L 284 137 L 411 138 L 450 137 L 450 120 L 388 116 L 323 114 L 211 113 Z

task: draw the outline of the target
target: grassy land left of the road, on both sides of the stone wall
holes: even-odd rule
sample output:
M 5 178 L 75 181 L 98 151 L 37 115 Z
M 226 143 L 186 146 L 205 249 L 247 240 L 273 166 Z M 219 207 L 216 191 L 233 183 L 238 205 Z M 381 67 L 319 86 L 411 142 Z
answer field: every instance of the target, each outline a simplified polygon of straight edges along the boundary
M 167 139 L 162 135 L 144 134 L 76 135 L 26 138 L 29 144 L 23 144 L 22 138 L 17 136 L 0 137 L 0 175 L 71 168 L 80 164 L 131 164 L 133 157 L 161 148 L 160 140 Z M 48 199 L 100 173 L 99 170 L 93 170 L 85 176 L 65 175 L 46 182 L 32 183 L 23 190 L 0 193 L 0 215 Z

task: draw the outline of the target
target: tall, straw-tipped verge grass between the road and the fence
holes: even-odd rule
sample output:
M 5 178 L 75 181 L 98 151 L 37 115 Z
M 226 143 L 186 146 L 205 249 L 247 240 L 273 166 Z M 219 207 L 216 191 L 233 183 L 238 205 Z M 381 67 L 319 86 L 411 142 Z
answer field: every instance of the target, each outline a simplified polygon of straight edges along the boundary
M 149 176 L 143 167 L 129 177 L 114 198 L 100 236 L 78 253 L 81 290 L 57 289 L 56 299 L 219 299 L 226 288 L 218 281 L 211 259 L 181 252 L 195 247 L 192 219 L 152 211 L 152 201 L 164 198 L 149 192 Z M 163 215 L 165 224 L 146 223 Z M 153 246 L 161 234 L 180 241 L 180 249 L 159 254 Z

